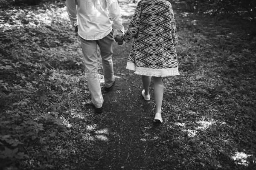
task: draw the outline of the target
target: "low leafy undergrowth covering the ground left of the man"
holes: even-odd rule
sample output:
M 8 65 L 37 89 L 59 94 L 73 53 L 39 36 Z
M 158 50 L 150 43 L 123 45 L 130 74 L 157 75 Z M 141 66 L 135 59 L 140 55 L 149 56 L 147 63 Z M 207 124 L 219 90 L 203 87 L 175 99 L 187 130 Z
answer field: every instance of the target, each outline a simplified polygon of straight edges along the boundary
M 54 153 L 37 144 L 44 144 L 47 128 L 69 132 L 64 117 L 79 93 L 73 75 L 81 75 L 84 66 L 81 51 L 73 50 L 79 43 L 66 10 L 51 5 L 0 11 L 1 168 L 28 167 L 26 161 L 38 156 L 40 168 L 52 169 Z

